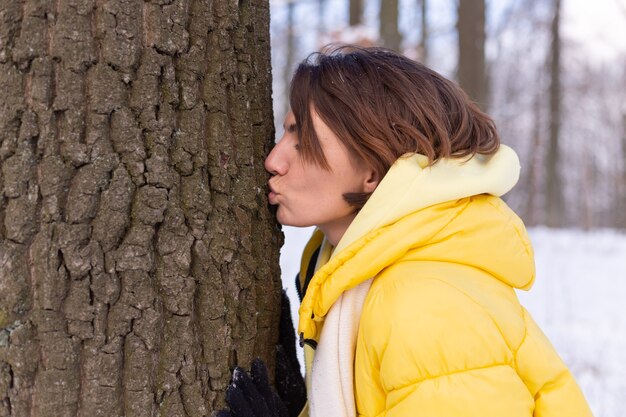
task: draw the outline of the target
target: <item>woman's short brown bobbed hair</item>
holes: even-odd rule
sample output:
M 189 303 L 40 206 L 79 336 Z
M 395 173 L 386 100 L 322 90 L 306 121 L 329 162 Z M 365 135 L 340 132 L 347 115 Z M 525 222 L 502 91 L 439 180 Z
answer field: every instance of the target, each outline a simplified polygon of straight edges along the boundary
M 316 112 L 349 153 L 382 179 L 407 152 L 441 158 L 490 155 L 500 139 L 493 120 L 430 68 L 394 51 L 352 45 L 309 55 L 291 80 L 290 105 L 305 161 L 328 166 L 313 128 Z M 369 194 L 344 198 L 362 207 Z

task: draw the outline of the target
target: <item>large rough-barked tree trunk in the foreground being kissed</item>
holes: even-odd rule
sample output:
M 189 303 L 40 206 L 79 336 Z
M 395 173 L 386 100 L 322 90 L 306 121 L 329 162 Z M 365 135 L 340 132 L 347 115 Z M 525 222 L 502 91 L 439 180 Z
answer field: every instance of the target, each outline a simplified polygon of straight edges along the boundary
M 0 416 L 208 416 L 272 362 L 264 0 L 0 2 Z

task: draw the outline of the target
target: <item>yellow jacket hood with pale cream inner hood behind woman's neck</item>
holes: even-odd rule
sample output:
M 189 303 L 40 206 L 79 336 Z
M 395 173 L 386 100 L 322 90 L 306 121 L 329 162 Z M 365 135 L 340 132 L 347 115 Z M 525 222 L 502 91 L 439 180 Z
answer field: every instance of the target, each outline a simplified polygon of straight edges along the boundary
M 524 226 L 499 198 L 483 195 L 503 195 L 519 171 L 517 155 L 504 145 L 491 157 L 450 158 L 432 166 L 419 154 L 398 159 L 311 279 L 299 333 L 315 338 L 344 291 L 405 258 L 463 264 L 529 288 L 534 261 Z

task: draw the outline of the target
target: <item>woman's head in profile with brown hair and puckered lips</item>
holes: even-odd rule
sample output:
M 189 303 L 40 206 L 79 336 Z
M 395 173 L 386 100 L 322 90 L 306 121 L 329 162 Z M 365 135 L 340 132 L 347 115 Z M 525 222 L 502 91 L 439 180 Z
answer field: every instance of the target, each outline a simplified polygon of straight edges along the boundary
M 280 223 L 318 226 L 336 244 L 405 153 L 431 163 L 492 154 L 492 120 L 454 83 L 380 48 L 336 47 L 293 76 L 284 133 L 265 161 Z

